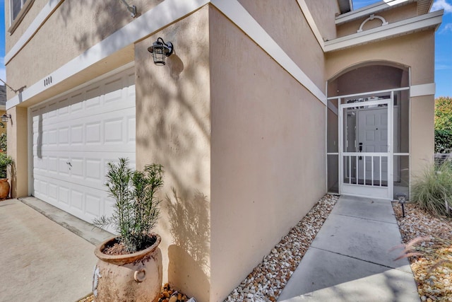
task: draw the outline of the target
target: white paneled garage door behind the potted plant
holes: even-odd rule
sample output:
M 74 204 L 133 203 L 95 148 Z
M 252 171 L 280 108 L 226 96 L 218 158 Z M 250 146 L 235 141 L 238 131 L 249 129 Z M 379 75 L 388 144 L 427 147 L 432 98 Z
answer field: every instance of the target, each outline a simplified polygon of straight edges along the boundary
M 89 222 L 112 213 L 106 164 L 135 165 L 134 81 L 128 69 L 32 108 L 35 197 Z

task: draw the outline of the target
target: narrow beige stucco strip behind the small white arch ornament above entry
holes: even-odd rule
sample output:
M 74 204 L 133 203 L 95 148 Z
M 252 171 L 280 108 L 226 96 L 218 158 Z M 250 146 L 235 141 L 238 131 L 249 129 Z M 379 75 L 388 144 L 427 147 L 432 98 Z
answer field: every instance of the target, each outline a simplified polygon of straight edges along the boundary
M 408 18 L 413 18 L 417 16 L 417 2 L 412 2 L 411 4 L 399 6 L 396 8 L 391 8 L 386 11 L 380 11 L 375 13 L 376 16 L 383 17 L 388 23 L 395 23 L 398 21 L 403 21 Z M 343 37 L 345 35 L 352 35 L 357 33 L 359 26 L 367 19 L 369 15 L 359 18 L 354 21 L 343 23 L 338 25 L 338 37 Z M 374 20 L 367 21 L 362 30 L 369 30 L 371 28 L 381 27 L 382 21 L 379 18 L 374 18 Z

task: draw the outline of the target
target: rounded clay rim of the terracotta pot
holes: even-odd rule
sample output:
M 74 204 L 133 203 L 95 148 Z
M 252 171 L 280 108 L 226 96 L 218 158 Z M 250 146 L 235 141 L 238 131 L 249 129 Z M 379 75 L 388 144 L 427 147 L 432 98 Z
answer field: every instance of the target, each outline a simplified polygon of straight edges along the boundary
M 126 255 L 107 255 L 102 252 L 102 250 L 105 248 L 105 245 L 107 243 L 110 243 L 113 240 L 117 240 L 118 236 L 113 236 L 111 238 L 108 238 L 104 242 L 100 243 L 100 245 L 97 245 L 94 250 L 94 255 L 96 255 L 97 258 L 99 258 L 102 261 L 112 263 L 114 265 L 126 265 L 127 263 L 136 262 L 138 260 L 141 260 L 143 257 L 149 255 L 151 252 L 153 252 L 155 249 L 157 249 L 158 245 L 160 244 L 160 241 L 162 238 L 157 233 L 150 233 L 149 236 L 155 236 L 155 243 L 151 245 L 149 248 L 146 248 L 144 250 L 138 250 L 138 252 L 133 252 L 131 254 Z

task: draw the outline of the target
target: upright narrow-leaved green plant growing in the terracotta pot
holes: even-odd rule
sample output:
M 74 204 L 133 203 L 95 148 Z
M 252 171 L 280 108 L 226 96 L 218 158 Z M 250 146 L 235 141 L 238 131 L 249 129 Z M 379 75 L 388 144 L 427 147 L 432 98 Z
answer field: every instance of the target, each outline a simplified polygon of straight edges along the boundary
M 126 158 L 119 158 L 117 164 L 108 163 L 106 176 L 114 212 L 111 217 L 95 219 L 94 224 L 113 226 L 128 252 L 143 250 L 160 214 L 157 190 L 163 185 L 162 165 L 145 165 L 143 171 L 136 171 L 129 168 Z

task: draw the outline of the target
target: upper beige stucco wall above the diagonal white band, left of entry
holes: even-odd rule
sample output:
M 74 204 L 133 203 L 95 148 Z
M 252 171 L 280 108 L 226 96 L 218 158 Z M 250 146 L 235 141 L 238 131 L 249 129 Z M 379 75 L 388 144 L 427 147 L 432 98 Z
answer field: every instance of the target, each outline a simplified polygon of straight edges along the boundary
M 297 1 L 284 1 L 284 5 L 275 4 L 272 0 L 239 2 L 324 93 L 323 51 Z

